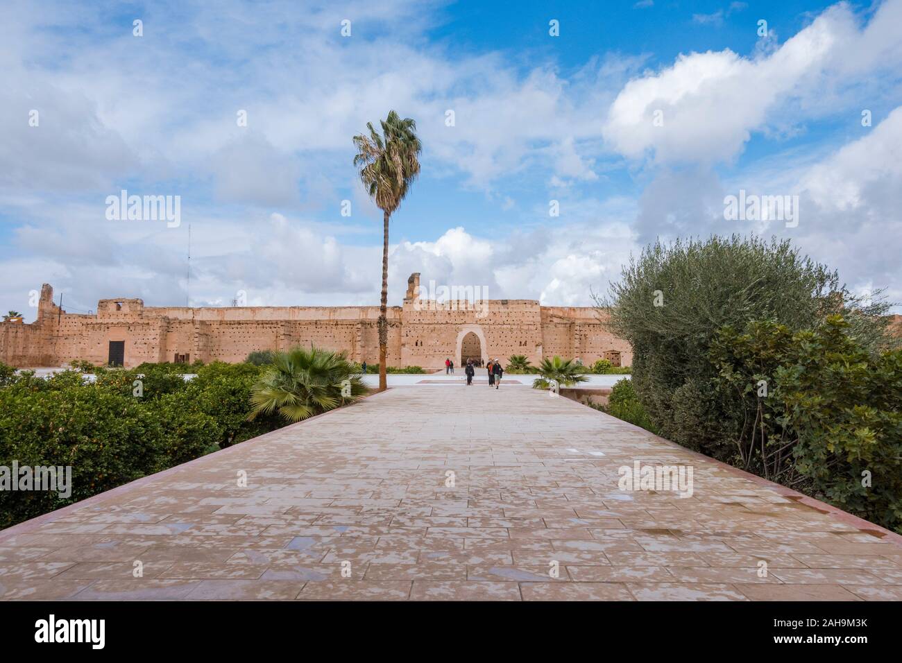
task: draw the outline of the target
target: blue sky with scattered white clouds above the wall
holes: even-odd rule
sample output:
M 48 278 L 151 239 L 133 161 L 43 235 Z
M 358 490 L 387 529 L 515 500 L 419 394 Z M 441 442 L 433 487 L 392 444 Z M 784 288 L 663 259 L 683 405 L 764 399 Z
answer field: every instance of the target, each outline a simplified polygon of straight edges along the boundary
M 423 152 L 390 305 L 420 272 L 589 306 L 644 245 L 733 233 L 902 301 L 900 26 L 902 0 L 2 0 L 0 310 L 33 320 L 44 282 L 76 313 L 378 304 L 352 137 L 392 109 Z M 729 217 L 741 191 L 794 220 Z

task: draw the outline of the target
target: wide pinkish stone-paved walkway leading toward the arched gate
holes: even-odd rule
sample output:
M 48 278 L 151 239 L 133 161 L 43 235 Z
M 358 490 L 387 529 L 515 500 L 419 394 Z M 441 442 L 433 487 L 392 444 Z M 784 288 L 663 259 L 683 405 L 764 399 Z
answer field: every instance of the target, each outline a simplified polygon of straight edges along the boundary
M 0 597 L 900 600 L 898 540 L 547 392 L 411 386 L 0 532 Z

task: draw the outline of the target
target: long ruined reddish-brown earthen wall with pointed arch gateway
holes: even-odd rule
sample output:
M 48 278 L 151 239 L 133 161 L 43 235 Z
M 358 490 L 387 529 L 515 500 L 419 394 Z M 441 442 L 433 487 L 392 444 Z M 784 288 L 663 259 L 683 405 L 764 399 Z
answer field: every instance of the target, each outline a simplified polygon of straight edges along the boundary
M 607 333 L 593 308 L 542 307 L 529 299 L 471 302 L 418 297 L 412 274 L 402 307 L 390 307 L 387 363 L 440 369 L 446 357 L 460 363 L 468 332 L 478 338 L 484 360 L 526 355 L 579 357 L 591 364 L 630 345 Z M 93 315 L 71 314 L 41 289 L 32 325 L 3 323 L 0 361 L 16 366 L 60 366 L 76 359 L 106 364 L 111 341 L 124 342 L 124 365 L 201 360 L 240 362 L 254 350 L 315 345 L 344 350 L 356 362 L 379 361 L 379 307 L 145 307 L 141 299 L 101 299 Z M 472 352 L 472 350 L 468 350 Z

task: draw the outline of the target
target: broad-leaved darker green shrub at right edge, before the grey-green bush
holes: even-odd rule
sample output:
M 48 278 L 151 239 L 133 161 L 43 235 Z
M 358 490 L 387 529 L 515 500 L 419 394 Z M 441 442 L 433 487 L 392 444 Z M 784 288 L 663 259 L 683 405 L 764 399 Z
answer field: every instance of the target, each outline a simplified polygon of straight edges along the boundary
M 739 403 L 736 465 L 902 531 L 902 350 L 874 353 L 831 316 L 724 327 L 711 356 Z

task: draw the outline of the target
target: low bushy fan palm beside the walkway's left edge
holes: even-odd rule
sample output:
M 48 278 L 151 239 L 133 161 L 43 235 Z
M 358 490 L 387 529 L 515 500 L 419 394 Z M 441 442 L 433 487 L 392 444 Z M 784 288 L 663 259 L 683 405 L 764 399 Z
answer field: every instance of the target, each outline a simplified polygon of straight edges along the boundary
M 248 419 L 278 411 L 289 421 L 354 402 L 366 385 L 344 352 L 297 347 L 272 354 L 272 366 L 251 387 Z

